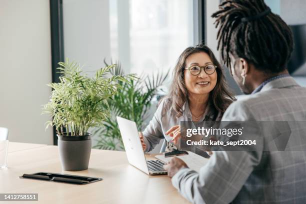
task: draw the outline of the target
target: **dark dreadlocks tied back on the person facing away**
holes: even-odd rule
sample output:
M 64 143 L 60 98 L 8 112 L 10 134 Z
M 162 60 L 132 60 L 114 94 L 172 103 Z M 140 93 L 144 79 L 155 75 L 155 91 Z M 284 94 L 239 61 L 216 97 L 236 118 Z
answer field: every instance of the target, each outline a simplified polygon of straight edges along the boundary
M 231 53 L 266 73 L 286 68 L 293 50 L 292 32 L 263 0 L 225 0 L 211 17 L 219 26 L 217 49 L 227 67 Z

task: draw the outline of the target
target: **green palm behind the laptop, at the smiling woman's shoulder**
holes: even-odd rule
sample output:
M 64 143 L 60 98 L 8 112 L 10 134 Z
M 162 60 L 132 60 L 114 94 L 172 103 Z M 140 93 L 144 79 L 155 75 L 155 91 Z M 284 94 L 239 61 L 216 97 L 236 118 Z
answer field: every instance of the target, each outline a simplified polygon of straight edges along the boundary
M 104 61 L 107 65 L 107 63 Z M 117 65 L 112 74 L 123 74 L 120 65 Z M 116 116 L 124 117 L 135 121 L 138 131 L 144 127 L 144 120 L 147 117 L 147 111 L 151 106 L 151 101 L 160 90 L 168 75 L 160 74 L 145 76 L 141 78 L 130 78 L 128 81 L 120 81 L 122 87 L 109 99 L 109 109 L 111 116 L 104 122 L 103 126 L 95 128 L 92 136 L 97 137 L 97 143 L 94 148 L 123 150 L 124 146 L 121 134 L 117 125 Z

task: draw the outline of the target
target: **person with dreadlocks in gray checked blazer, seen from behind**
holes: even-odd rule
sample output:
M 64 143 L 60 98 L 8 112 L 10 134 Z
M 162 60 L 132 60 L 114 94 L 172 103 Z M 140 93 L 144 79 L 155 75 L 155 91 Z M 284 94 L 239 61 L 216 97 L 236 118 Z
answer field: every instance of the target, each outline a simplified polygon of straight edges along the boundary
M 172 184 L 193 203 L 306 203 L 306 88 L 286 69 L 290 28 L 263 0 L 224 0 L 212 17 L 222 61 L 251 93 L 231 103 L 222 121 L 248 121 L 241 139 L 256 144 L 214 151 L 199 172 L 172 158 L 164 166 Z M 265 122 L 249 128 L 254 121 Z

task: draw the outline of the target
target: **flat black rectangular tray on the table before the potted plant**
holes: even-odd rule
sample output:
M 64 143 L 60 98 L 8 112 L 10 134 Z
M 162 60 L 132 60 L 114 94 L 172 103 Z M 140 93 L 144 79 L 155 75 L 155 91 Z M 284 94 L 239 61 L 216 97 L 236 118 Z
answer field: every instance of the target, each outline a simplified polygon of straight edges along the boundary
M 49 173 L 49 172 L 38 172 L 33 174 L 24 173 L 19 178 L 30 178 L 30 179 L 39 179 L 39 180 L 48 180 L 55 182 L 65 182 L 72 184 L 87 184 L 95 181 L 102 180 L 102 178 L 95 177 L 86 177 L 79 175 L 68 175 L 68 174 L 60 174 L 60 173 Z

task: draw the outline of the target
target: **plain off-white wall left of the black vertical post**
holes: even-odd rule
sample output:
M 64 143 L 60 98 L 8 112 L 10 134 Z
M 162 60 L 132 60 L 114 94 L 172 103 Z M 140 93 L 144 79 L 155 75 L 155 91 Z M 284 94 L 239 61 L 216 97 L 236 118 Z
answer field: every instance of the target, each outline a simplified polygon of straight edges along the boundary
M 0 126 L 10 141 L 52 144 L 40 115 L 51 89 L 49 0 L 0 0 Z

